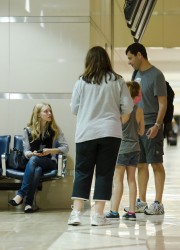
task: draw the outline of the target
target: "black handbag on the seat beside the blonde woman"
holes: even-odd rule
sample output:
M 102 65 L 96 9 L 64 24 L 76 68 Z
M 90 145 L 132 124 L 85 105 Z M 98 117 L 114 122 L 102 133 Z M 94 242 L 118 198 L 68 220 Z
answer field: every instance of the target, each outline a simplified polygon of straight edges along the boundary
M 28 160 L 23 151 L 14 148 L 7 156 L 7 168 L 15 170 L 25 170 Z

